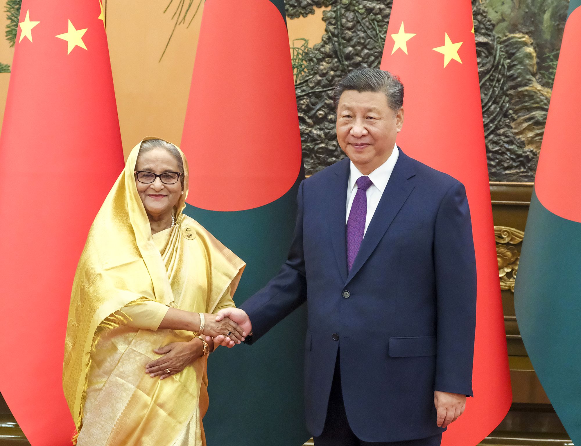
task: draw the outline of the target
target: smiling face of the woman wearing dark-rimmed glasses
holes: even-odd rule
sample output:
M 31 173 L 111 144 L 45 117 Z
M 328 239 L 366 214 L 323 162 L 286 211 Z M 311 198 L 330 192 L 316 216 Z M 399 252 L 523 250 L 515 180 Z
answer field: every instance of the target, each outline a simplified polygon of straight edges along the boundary
M 135 170 L 145 170 L 156 174 L 166 172 L 180 172 L 177 160 L 164 149 L 152 149 L 139 155 Z M 135 184 L 139 197 L 145 206 L 145 211 L 152 217 L 171 215 L 171 209 L 180 201 L 182 185 L 181 179 L 175 184 L 164 184 L 160 177 L 153 183 L 144 184 L 135 176 Z

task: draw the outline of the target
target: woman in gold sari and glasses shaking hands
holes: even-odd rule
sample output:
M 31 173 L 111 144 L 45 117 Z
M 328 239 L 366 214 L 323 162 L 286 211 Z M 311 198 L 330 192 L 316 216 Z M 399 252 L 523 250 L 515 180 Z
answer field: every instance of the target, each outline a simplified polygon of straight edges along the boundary
M 205 444 L 212 337 L 246 336 L 213 315 L 234 306 L 245 263 L 182 213 L 187 195 L 184 154 L 148 138 L 91 226 L 63 369 L 79 446 Z

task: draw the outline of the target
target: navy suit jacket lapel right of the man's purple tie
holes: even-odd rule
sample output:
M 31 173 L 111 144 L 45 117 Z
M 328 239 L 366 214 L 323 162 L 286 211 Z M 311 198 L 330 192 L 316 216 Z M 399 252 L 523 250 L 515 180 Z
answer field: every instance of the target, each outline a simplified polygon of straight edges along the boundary
M 379 200 L 379 204 L 367 228 L 365 237 L 363 237 L 361 247 L 357 252 L 357 256 L 353 262 L 353 267 L 349 272 L 346 283 L 357 274 L 358 270 L 361 269 L 361 266 L 363 266 L 365 261 L 367 261 L 383 237 L 383 234 L 388 230 L 389 225 L 401 209 L 401 206 L 406 202 L 407 197 L 410 196 L 411 191 L 414 189 L 414 185 L 411 184 L 408 179 L 413 177 L 414 174 L 415 172 L 410 158 L 408 158 L 407 155 L 404 155 L 400 149 L 396 165 L 389 177 L 385 190 L 383 190 L 383 195 Z M 345 197 L 345 200 L 346 199 L 347 198 Z M 343 206 L 345 206 L 345 204 Z M 346 248 L 343 248 L 343 252 L 345 251 Z

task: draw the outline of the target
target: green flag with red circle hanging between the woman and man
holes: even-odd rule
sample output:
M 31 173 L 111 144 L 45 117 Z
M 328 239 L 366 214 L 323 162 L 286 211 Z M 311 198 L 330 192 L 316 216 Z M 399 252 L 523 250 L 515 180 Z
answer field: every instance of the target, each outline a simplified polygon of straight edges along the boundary
M 282 0 L 207 0 L 181 148 L 188 157 L 185 212 L 247 264 L 236 305 L 286 260 L 302 170 L 299 120 Z M 209 360 L 207 443 L 299 446 L 306 309 L 252 348 Z

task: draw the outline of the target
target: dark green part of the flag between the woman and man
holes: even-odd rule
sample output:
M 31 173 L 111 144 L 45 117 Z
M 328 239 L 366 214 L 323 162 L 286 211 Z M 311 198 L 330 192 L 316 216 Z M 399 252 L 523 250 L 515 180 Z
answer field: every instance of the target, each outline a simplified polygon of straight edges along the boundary
M 286 261 L 295 228 L 295 185 L 255 209 L 219 212 L 188 205 L 185 213 L 246 262 L 236 305 L 264 287 Z M 219 347 L 208 361 L 207 443 L 219 446 L 299 446 L 310 438 L 304 420 L 303 357 L 306 306 L 252 347 Z

